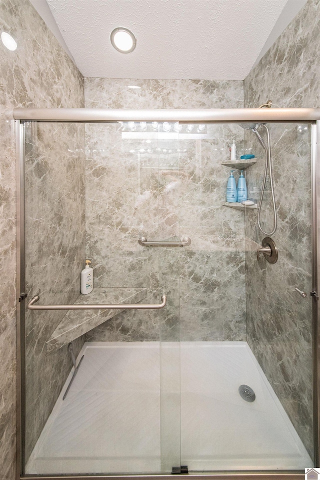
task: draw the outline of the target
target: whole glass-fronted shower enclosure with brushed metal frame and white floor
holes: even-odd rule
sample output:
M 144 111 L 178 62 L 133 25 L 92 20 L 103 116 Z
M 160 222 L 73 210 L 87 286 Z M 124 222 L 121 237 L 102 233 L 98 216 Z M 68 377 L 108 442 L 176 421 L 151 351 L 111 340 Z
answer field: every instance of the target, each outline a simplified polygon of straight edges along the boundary
M 319 111 L 14 118 L 17 478 L 302 478 L 318 466 Z M 257 225 L 265 152 L 242 122 L 270 131 L 275 263 L 258 254 L 270 244 Z M 231 162 L 233 140 L 255 157 Z M 244 170 L 253 205 L 225 202 L 230 169 Z

